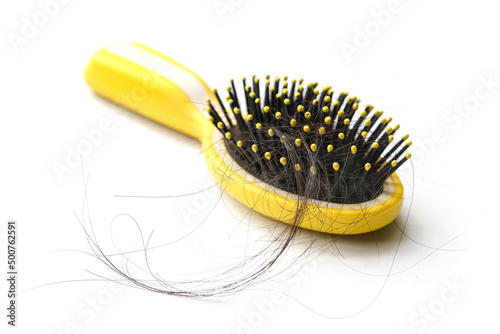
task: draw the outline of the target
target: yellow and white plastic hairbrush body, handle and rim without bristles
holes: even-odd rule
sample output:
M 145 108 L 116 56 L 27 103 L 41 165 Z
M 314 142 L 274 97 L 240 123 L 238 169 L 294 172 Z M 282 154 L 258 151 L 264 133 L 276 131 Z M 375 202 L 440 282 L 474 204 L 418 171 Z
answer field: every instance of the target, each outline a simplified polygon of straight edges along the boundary
M 235 168 L 221 136 L 202 111 L 205 98 L 213 98 L 212 93 L 195 73 L 154 50 L 130 43 L 98 51 L 85 70 L 85 79 L 98 94 L 200 140 L 207 166 L 225 191 L 269 218 L 294 223 L 295 195 L 270 188 L 248 173 L 235 172 L 241 168 Z M 391 223 L 402 204 L 403 186 L 394 173 L 373 201 L 351 205 L 312 201 L 300 226 L 335 234 L 366 233 Z

